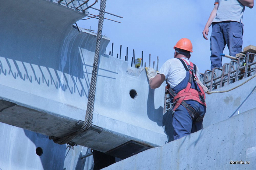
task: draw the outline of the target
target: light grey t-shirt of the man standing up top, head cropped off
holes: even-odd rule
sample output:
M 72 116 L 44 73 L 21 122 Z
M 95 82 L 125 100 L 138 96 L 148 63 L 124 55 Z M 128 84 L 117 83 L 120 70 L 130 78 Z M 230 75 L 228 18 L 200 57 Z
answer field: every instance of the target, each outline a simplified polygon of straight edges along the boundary
M 237 21 L 243 23 L 243 12 L 245 6 L 238 0 L 215 0 L 218 10 L 213 22 Z

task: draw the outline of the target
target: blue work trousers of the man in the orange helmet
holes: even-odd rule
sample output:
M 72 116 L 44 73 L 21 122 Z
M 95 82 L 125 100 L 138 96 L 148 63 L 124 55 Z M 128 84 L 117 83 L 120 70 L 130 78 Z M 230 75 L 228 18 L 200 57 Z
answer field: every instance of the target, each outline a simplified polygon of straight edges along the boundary
M 186 101 L 186 103 L 189 106 L 193 107 L 195 111 L 199 113 L 200 117 L 205 115 L 206 107 L 202 104 L 199 104 L 198 102 L 192 100 L 188 100 Z M 202 127 L 202 123 L 203 120 L 196 123 L 193 122 L 188 110 L 186 110 L 184 106 L 180 105 L 175 110 L 173 115 L 174 140 L 200 130 Z

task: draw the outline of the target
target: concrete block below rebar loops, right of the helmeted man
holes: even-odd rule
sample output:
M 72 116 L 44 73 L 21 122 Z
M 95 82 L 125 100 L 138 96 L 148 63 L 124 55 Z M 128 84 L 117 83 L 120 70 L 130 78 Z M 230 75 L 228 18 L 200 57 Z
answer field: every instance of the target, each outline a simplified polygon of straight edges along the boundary
M 228 86 L 216 89 L 214 91 L 229 90 L 242 84 L 250 77 L 232 83 Z M 207 110 L 203 120 L 203 127 L 213 125 L 214 123 L 224 121 L 228 118 L 255 108 L 256 98 L 256 78 L 253 78 L 244 85 L 226 93 L 213 93 L 206 95 Z

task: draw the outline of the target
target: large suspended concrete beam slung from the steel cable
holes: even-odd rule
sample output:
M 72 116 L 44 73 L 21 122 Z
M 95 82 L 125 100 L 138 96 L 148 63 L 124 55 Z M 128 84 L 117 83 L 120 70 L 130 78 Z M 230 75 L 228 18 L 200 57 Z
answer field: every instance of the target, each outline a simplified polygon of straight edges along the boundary
M 75 124 L 85 118 L 96 46 L 95 33 L 72 26 L 84 16 L 45 0 L 3 1 L 0 122 L 55 137 L 81 127 Z M 103 132 L 72 141 L 102 152 L 130 140 L 163 145 L 164 85 L 152 90 L 144 69 L 104 55 L 109 41 L 102 37 L 93 116 Z

